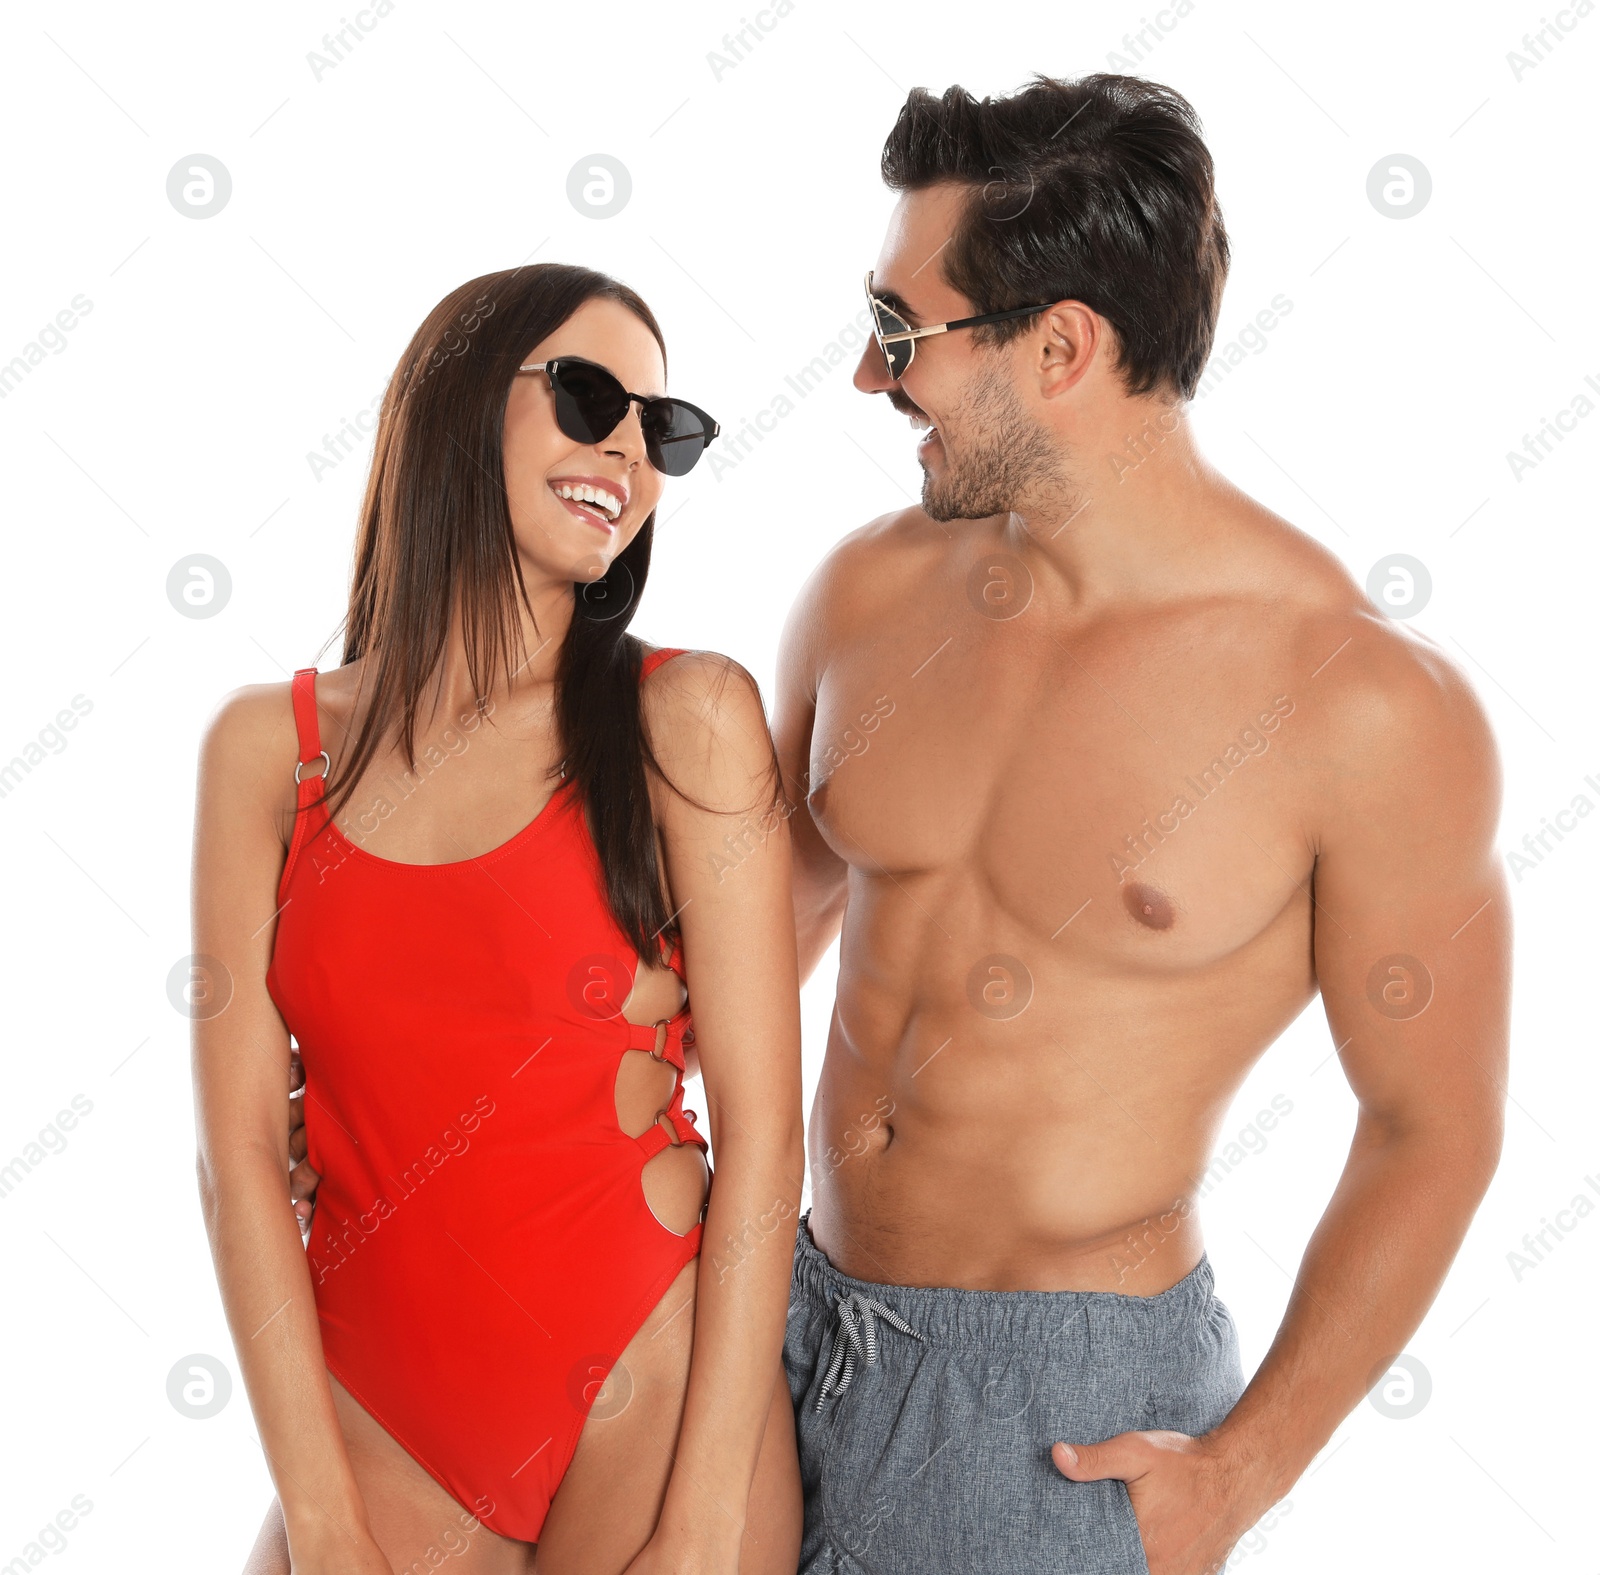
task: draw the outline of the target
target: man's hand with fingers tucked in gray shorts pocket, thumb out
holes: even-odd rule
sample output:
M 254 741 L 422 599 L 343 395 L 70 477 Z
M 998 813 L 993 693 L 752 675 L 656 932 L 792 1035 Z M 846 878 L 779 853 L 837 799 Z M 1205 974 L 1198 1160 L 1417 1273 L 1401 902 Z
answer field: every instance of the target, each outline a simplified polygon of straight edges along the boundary
M 1238 1501 L 1238 1474 L 1218 1447 L 1187 1433 L 1118 1433 L 1104 1444 L 1056 1444 L 1056 1469 L 1074 1482 L 1120 1477 L 1150 1575 L 1216 1575 L 1256 1522 Z

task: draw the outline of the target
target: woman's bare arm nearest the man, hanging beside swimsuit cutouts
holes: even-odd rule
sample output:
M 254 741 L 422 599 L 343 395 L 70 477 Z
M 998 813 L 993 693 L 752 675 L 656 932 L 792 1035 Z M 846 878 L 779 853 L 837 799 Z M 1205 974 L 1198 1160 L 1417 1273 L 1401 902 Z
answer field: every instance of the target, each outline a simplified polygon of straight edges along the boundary
M 717 1157 L 678 1450 L 656 1543 L 733 1572 L 789 1309 L 805 1138 L 789 823 L 762 698 L 736 663 L 686 653 L 645 687 L 670 781 L 656 815 Z

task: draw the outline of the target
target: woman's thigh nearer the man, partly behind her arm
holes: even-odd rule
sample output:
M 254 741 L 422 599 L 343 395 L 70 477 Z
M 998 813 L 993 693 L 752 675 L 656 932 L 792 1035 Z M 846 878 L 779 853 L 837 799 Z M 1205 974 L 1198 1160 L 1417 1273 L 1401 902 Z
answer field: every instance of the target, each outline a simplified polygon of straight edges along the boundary
M 694 1345 L 699 1260 L 678 1272 L 600 1391 L 539 1537 L 538 1575 L 619 1575 L 650 1541 L 677 1452 Z M 794 1575 L 800 1562 L 800 1463 L 782 1362 L 746 1513 L 741 1575 Z

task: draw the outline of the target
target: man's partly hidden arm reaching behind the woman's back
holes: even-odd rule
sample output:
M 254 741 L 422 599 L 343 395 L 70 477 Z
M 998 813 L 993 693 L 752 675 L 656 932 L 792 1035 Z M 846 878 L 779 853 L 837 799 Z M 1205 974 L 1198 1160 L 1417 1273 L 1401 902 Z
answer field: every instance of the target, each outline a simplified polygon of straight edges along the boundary
M 846 538 L 846 543 L 853 538 Z M 822 840 L 806 794 L 811 788 L 811 727 L 816 690 L 830 640 L 829 607 L 840 575 L 843 543 L 813 571 L 795 597 L 778 647 L 778 688 L 773 698 L 773 743 L 784 773 L 784 797 L 792 807 L 795 938 L 803 984 L 834 944 L 845 919 L 845 877 L 850 866 Z

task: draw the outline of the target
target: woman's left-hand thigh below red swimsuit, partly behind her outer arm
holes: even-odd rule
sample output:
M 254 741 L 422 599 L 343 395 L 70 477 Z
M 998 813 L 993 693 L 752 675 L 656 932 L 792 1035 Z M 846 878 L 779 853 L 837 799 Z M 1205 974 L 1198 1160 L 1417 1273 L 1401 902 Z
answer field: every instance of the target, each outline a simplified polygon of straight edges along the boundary
M 453 1575 L 526 1575 L 531 1570 L 528 1543 L 499 1537 L 478 1522 L 333 1373 L 328 1383 L 355 1485 L 366 1506 L 366 1524 L 395 1570 L 402 1575 L 413 1569 L 430 1572 L 446 1559 Z M 267 1509 L 245 1575 L 290 1575 L 288 1538 L 277 1500 Z

